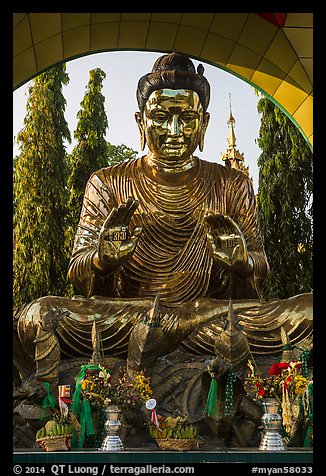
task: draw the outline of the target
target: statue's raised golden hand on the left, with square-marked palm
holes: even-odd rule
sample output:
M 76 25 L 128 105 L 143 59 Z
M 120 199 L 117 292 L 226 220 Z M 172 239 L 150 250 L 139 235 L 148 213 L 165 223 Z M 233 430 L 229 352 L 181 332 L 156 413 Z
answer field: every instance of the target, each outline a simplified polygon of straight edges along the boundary
M 110 273 L 133 254 L 142 227 L 129 231 L 130 220 L 138 207 L 138 201 L 128 198 L 118 208 L 113 208 L 100 231 L 98 251 L 93 266 L 100 273 Z

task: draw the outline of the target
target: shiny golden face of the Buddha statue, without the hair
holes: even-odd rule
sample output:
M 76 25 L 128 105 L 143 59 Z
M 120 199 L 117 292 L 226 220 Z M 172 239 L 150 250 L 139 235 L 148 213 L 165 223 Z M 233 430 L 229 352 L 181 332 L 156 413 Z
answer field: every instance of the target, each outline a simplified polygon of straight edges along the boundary
M 173 162 L 192 155 L 207 122 L 196 92 L 159 89 L 149 96 L 138 125 L 152 155 Z

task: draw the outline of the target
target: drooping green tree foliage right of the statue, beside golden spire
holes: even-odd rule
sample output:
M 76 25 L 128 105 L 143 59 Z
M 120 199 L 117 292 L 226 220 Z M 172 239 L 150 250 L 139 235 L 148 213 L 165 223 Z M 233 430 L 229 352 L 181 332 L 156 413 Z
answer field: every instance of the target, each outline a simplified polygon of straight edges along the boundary
M 261 98 L 258 145 L 260 225 L 271 271 L 265 299 L 312 290 L 312 153 L 297 127 Z

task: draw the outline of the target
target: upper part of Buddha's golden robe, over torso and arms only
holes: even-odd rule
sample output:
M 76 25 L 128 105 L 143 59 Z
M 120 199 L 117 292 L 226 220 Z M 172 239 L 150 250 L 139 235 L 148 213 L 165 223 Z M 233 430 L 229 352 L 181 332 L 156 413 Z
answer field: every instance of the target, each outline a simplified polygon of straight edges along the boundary
M 170 306 L 215 299 L 256 298 L 267 272 L 258 228 L 254 192 L 242 172 L 196 160 L 191 183 L 162 185 L 146 176 L 142 160 L 94 173 L 87 185 L 69 268 L 80 293 L 120 298 L 154 298 Z M 113 207 L 133 197 L 139 201 L 131 226 L 142 226 L 130 260 L 107 277 L 92 269 L 100 228 Z M 207 242 L 207 213 L 229 215 L 239 225 L 254 271 L 238 278 L 218 266 Z

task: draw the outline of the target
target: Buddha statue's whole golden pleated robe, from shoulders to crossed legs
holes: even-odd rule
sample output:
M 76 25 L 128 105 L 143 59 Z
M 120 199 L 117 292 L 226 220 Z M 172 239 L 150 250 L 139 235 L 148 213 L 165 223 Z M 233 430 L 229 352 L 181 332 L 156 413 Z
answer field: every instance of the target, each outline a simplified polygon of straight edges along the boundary
M 100 275 L 92 257 L 101 226 L 128 197 L 139 202 L 130 223 L 131 232 L 142 226 L 139 241 L 128 262 Z M 228 215 L 239 225 L 253 261 L 251 276 L 239 277 L 214 261 L 207 213 Z M 69 267 L 80 296 L 47 296 L 24 306 L 15 316 L 17 336 L 24 350 L 35 354 L 43 378 L 57 368 L 59 348 L 66 357 L 91 355 L 94 319 L 103 351 L 126 355 L 133 327 L 159 292 L 161 326 L 169 344 L 162 352 L 181 346 L 213 355 L 231 297 L 253 352 L 278 353 L 281 326 L 293 343 L 312 334 L 312 294 L 262 302 L 259 281 L 267 271 L 254 192 L 244 173 L 196 159 L 191 181 L 167 186 L 146 175 L 142 159 L 133 160 L 99 170 L 87 184 Z

